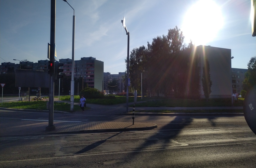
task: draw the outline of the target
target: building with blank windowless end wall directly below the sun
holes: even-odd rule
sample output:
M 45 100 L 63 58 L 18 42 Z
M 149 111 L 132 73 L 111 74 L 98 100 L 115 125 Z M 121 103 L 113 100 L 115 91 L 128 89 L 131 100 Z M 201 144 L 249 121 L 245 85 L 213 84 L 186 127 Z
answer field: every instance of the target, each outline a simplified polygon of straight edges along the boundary
M 210 79 L 212 81 L 211 94 L 209 98 L 230 98 L 232 95 L 231 75 L 231 49 L 224 49 L 211 46 L 197 46 L 193 54 L 199 56 L 198 66 L 200 67 L 199 94 L 205 98 L 202 75 L 203 67 L 208 60 L 210 66 Z M 192 56 L 193 56 L 192 54 Z

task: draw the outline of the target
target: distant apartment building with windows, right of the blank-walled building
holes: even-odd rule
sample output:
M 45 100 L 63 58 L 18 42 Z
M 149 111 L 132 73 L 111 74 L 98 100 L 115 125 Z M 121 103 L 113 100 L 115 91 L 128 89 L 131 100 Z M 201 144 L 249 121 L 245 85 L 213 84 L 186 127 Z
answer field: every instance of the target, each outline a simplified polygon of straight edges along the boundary
M 243 80 L 245 78 L 244 73 L 248 69 L 232 68 L 232 93 L 240 94 L 243 90 Z

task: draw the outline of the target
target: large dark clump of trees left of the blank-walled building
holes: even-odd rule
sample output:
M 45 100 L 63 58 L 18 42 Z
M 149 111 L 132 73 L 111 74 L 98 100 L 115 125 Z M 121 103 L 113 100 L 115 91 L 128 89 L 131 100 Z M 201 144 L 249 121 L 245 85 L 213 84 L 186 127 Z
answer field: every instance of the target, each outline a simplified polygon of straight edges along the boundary
M 168 30 L 167 35 L 153 38 L 151 44 L 147 42 L 147 47 L 134 48 L 129 57 L 131 86 L 138 93 L 141 92 L 142 73 L 144 93 L 146 91 L 154 92 L 158 96 L 159 94 L 167 96 L 169 93 L 174 93 L 176 97 L 183 97 L 189 82 L 188 79 L 191 80 L 188 71 L 192 70 L 199 74 L 195 72 L 199 70 L 198 68 L 191 68 L 191 66 L 197 67 L 197 60 L 194 59 L 192 62 L 190 59 L 192 47 L 192 41 L 186 47 L 182 31 L 175 26 L 175 28 Z M 192 81 L 197 84 L 192 85 L 190 81 L 189 92 L 196 95 L 199 77 Z

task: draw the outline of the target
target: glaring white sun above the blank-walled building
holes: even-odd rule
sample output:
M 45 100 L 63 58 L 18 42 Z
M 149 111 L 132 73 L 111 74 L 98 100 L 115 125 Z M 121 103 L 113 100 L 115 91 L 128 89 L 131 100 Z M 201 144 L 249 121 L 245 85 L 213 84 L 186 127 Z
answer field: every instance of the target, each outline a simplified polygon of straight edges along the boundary
M 223 26 L 221 8 L 212 0 L 199 0 L 187 11 L 182 31 L 186 40 L 205 45 Z

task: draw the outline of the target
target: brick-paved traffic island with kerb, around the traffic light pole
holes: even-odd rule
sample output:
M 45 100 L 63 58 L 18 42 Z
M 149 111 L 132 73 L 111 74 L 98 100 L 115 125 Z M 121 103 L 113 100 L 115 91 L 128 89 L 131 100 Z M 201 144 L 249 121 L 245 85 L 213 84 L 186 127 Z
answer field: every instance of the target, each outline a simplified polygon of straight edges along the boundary
M 157 128 L 153 123 L 141 122 L 67 122 L 54 121 L 55 130 L 45 131 L 48 121 L 19 120 L 9 122 L 9 119 L 0 119 L 0 137 L 14 135 L 37 135 L 49 133 L 72 133 L 72 132 L 100 132 L 100 131 L 130 131 L 148 130 Z

